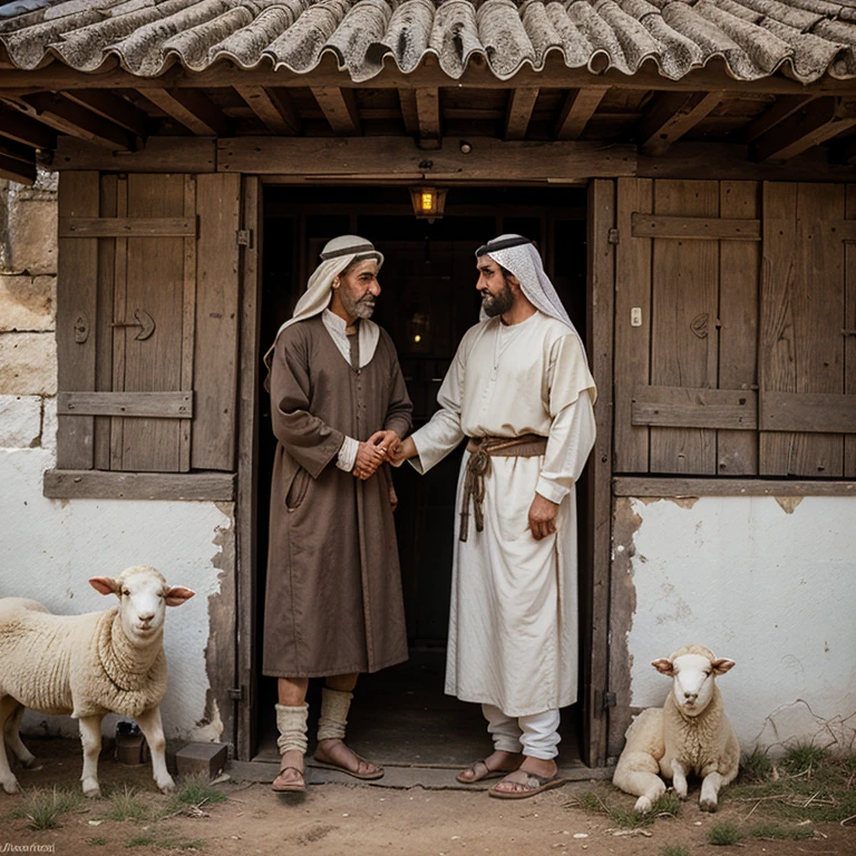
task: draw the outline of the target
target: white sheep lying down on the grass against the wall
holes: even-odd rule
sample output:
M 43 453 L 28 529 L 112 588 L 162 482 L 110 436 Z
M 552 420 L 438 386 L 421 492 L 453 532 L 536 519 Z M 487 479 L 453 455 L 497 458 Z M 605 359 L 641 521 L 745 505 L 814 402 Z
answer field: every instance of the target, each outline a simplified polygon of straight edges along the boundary
M 664 707 L 649 708 L 631 723 L 612 778 L 616 788 L 639 797 L 636 811 L 650 811 L 665 792 L 658 771 L 672 779 L 681 799 L 687 798 L 687 776 L 701 777 L 699 806 L 703 811 L 717 810 L 719 789 L 737 776 L 740 766 L 740 746 L 714 681 L 733 664 L 703 645 L 684 645 L 651 663 L 672 678 L 672 691 Z

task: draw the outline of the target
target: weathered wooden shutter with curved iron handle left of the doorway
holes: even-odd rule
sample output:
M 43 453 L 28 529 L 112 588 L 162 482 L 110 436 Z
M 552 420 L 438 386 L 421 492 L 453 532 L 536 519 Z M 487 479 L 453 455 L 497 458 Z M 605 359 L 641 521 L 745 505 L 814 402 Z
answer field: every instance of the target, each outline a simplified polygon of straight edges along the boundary
M 58 473 L 46 492 L 69 484 L 65 469 L 234 470 L 240 187 L 221 174 L 61 175 Z M 194 484 L 191 495 L 207 489 Z

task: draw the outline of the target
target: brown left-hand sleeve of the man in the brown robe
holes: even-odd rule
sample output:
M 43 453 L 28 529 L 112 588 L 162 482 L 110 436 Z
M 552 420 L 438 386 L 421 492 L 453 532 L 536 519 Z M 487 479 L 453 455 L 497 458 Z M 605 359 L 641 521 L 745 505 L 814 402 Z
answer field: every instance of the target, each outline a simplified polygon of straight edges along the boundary
M 309 412 L 308 344 L 300 324 L 276 342 L 271 364 L 273 434 L 312 478 L 337 456 L 344 435 Z

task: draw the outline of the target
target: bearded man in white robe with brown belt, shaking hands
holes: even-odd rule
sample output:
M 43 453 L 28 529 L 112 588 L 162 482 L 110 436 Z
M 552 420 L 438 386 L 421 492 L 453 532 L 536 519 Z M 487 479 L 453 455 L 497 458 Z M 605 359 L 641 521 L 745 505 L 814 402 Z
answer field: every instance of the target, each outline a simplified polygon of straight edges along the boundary
M 577 696 L 576 500 L 594 445 L 582 341 L 529 241 L 477 253 L 481 321 L 467 331 L 440 410 L 393 463 L 427 473 L 468 437 L 456 499 L 446 692 L 480 702 L 495 751 L 464 770 L 523 798 L 562 784 L 558 709 Z

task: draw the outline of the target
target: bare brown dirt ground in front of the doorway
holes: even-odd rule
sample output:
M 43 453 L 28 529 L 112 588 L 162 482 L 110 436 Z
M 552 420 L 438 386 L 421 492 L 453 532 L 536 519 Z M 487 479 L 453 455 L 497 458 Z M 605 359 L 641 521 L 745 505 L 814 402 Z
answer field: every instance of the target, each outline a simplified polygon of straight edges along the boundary
M 79 743 L 28 742 L 39 756 L 40 769 L 16 770 L 27 792 L 54 785 L 79 787 Z M 106 792 L 123 789 L 124 785 L 136 788 L 139 802 L 149 813 L 167 806 L 168 798 L 155 790 L 148 766 L 126 767 L 101 759 L 99 778 Z M 660 856 L 668 846 L 683 845 L 689 856 L 735 853 L 737 848 L 746 856 L 856 854 L 856 826 L 838 824 L 817 824 L 811 827 L 815 837 L 805 840 L 747 839 L 731 847 L 708 844 L 712 825 L 731 820 L 740 827 L 749 823 L 753 804 L 746 801 L 726 800 L 717 815 L 703 814 L 690 801 L 680 817 L 658 818 L 643 831 L 629 833 L 611 827 L 607 817 L 590 814 L 576 805 L 574 795 L 593 787 L 587 782 L 574 784 L 532 799 L 503 801 L 485 792 L 419 787 L 396 790 L 362 782 L 352 787 L 311 786 L 305 795 L 276 795 L 269 785 L 227 781 L 217 786 L 226 801 L 203 805 L 203 816 L 111 820 L 106 817 L 111 807 L 109 799 L 87 800 L 80 809 L 64 815 L 59 828 L 45 831 L 33 831 L 26 819 L 11 817 L 27 794 L 0 794 L 0 853 L 79 856 L 184 849 L 212 856 L 374 856 L 380 852 L 407 856 Z M 698 791 L 694 797 L 698 799 Z M 633 804 L 631 797 L 617 792 L 610 794 L 610 801 L 626 802 L 628 807 Z M 755 815 L 751 823 L 757 818 Z

